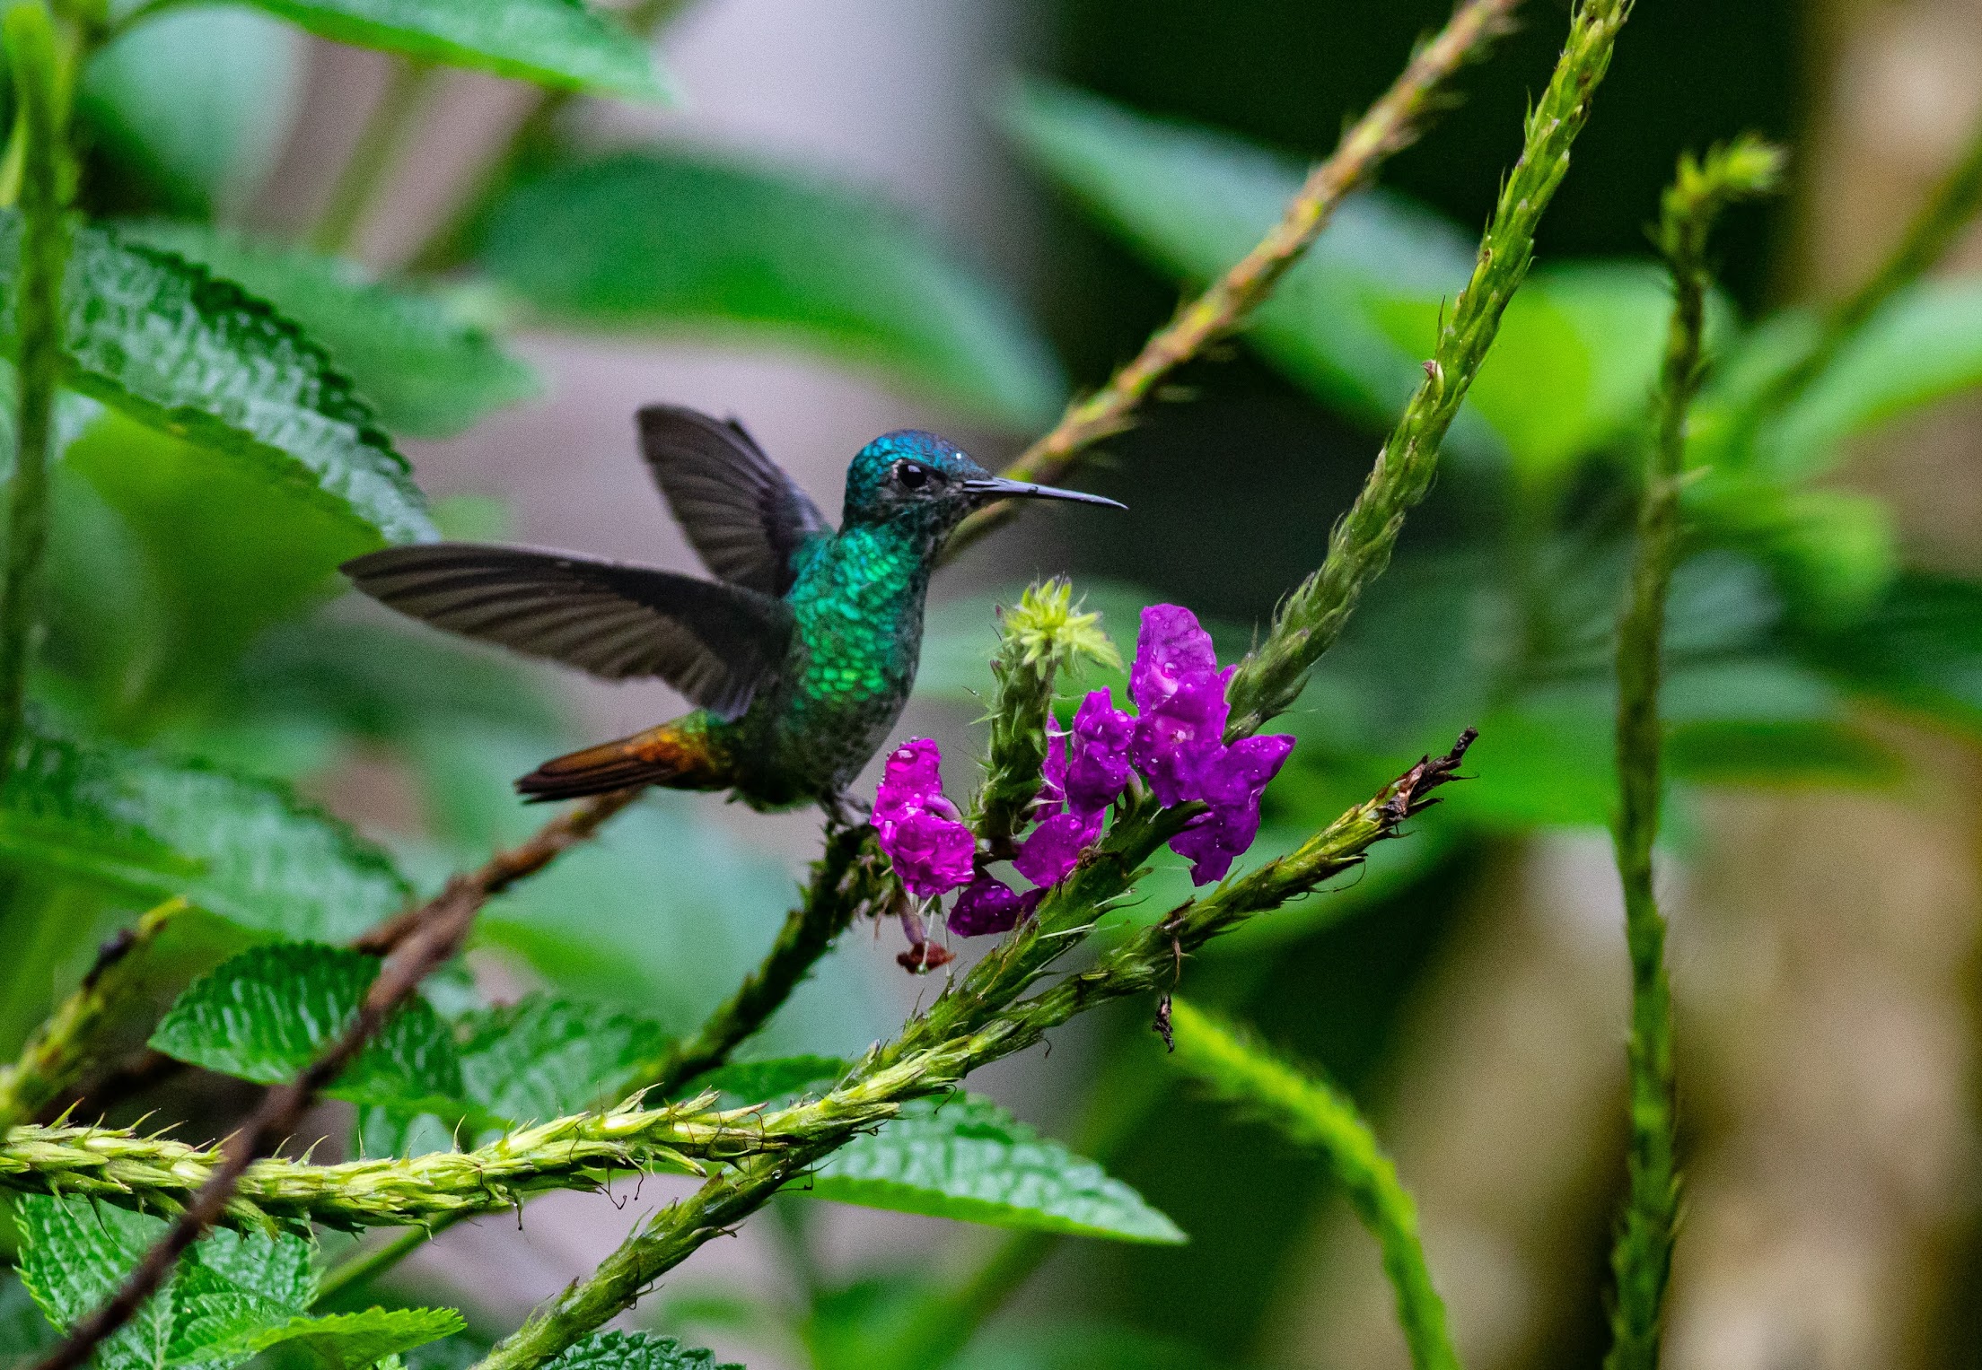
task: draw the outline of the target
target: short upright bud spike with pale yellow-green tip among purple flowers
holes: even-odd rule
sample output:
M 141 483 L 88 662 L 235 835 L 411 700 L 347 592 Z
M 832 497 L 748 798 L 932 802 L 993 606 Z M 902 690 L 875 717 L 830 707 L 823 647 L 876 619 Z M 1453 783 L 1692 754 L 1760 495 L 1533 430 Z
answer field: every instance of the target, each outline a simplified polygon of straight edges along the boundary
M 973 828 L 1003 855 L 1025 828 L 1046 760 L 1046 725 L 1060 671 L 1082 659 L 1122 669 L 1122 653 L 1102 632 L 1100 614 L 1084 614 L 1066 578 L 1027 586 L 999 620 L 1001 641 L 991 659 L 997 693 L 991 699 L 991 740 L 985 782 L 977 792 Z

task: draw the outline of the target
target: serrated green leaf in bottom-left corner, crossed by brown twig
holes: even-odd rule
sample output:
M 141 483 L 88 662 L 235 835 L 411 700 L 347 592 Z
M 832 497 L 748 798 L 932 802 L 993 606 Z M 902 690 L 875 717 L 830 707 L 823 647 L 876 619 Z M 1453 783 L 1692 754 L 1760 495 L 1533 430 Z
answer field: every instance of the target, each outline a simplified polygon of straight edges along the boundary
M 165 1235 L 165 1220 L 109 1204 L 26 1194 L 16 1200 L 20 1277 L 42 1313 L 67 1330 L 123 1287 L 125 1275 Z M 172 1279 L 111 1334 L 99 1370 L 163 1370 L 172 1344 Z

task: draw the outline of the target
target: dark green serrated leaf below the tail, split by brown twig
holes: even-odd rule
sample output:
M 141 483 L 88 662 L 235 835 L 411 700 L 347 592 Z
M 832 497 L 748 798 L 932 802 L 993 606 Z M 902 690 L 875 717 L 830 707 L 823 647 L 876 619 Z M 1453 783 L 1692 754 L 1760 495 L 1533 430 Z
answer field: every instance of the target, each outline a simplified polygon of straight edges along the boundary
M 293 1079 L 351 1028 L 379 960 L 339 946 L 256 946 L 196 980 L 151 1033 L 178 1061 L 262 1085 Z M 462 1061 L 432 1006 L 414 996 L 325 1091 L 359 1103 L 462 1097 Z

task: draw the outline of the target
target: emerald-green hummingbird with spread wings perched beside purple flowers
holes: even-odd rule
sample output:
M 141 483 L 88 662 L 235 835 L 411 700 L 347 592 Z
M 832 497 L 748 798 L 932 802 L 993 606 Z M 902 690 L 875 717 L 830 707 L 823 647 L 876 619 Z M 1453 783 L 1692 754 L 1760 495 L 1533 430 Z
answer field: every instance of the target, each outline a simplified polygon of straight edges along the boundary
M 755 810 L 844 794 L 908 703 L 930 572 L 967 513 L 995 499 L 1100 495 L 1009 481 L 920 430 L 846 467 L 834 531 L 735 420 L 654 404 L 640 451 L 716 576 L 486 542 L 390 546 L 343 564 L 371 598 L 434 628 L 601 679 L 662 679 L 692 713 L 543 762 L 529 800 L 634 786 L 729 790 Z

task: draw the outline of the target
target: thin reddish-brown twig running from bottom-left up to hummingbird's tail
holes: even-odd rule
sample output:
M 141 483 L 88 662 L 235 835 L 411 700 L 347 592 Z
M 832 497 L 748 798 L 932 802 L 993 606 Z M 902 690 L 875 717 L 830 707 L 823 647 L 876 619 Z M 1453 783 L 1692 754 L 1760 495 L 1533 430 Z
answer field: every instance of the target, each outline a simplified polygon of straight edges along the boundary
M 567 847 L 591 837 L 638 794 L 638 790 L 614 790 L 587 800 L 569 814 L 559 814 L 521 845 L 497 851 L 480 869 L 450 879 L 448 887 L 428 903 L 375 929 L 379 942 L 390 940 L 390 952 L 345 1033 L 287 1085 L 262 1095 L 262 1103 L 240 1130 L 222 1142 L 220 1166 L 172 1227 L 145 1253 L 123 1287 L 44 1356 L 36 1370 L 77 1370 L 107 1336 L 129 1322 L 172 1273 L 178 1257 L 220 1220 L 248 1166 L 295 1132 L 317 1093 L 365 1049 L 420 980 L 454 956 L 482 905 L 525 875 L 541 871 Z

